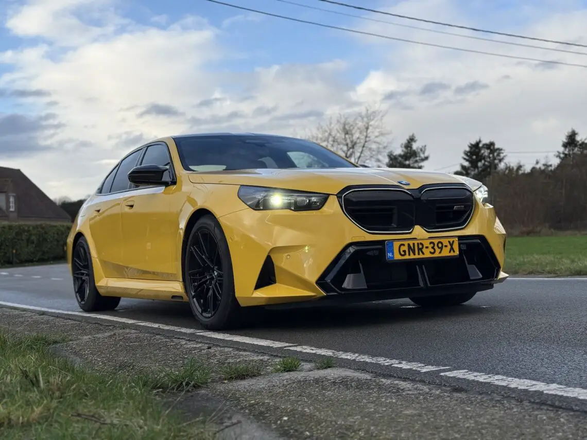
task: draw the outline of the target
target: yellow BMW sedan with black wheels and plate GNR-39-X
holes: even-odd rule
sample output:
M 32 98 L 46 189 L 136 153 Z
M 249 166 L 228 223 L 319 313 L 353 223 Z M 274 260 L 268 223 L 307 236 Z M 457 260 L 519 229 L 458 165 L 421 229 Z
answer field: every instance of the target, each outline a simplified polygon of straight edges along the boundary
M 206 329 L 247 307 L 409 298 L 454 306 L 492 289 L 506 234 L 487 188 L 366 168 L 265 134 L 164 137 L 104 178 L 68 237 L 79 307 L 187 302 Z

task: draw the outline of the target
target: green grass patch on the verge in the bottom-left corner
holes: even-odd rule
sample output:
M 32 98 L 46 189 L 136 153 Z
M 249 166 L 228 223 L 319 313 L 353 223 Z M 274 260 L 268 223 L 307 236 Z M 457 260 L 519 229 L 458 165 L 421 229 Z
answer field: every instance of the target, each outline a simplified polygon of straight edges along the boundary
M 176 375 L 124 377 L 101 375 L 53 356 L 59 340 L 43 336 L 15 339 L 0 332 L 0 437 L 212 439 L 203 421 L 185 423 L 166 411 L 152 388 L 194 387 L 203 381 L 200 365 Z

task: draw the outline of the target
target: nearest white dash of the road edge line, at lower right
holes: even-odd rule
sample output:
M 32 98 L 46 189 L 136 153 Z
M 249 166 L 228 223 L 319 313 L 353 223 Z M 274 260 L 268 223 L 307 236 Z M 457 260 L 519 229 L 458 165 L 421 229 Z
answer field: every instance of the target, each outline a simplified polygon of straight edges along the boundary
M 518 390 L 542 391 L 545 394 L 563 395 L 565 397 L 574 397 L 581 400 L 587 400 L 587 390 L 583 388 L 571 388 L 558 384 L 546 384 L 527 379 L 516 379 L 514 377 L 501 376 L 498 374 L 474 373 L 468 370 L 446 371 L 440 373 L 442 376 L 458 377 L 461 379 L 485 382 L 502 387 L 518 388 Z

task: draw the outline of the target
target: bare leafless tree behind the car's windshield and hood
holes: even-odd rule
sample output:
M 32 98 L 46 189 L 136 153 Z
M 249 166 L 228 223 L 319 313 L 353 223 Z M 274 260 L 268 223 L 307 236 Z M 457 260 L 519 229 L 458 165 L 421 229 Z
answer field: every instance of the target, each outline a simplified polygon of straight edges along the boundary
M 385 127 L 385 116 L 385 111 L 372 106 L 358 113 L 339 113 L 305 137 L 356 164 L 382 165 L 391 135 Z

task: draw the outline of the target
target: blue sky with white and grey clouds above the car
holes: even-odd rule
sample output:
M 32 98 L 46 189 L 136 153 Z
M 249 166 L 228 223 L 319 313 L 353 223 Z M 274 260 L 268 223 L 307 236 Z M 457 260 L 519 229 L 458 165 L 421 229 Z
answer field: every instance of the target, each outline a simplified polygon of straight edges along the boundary
M 225 0 L 395 38 L 587 65 L 587 56 L 465 39 L 277 0 Z M 403 26 L 548 48 L 342 8 Z M 343 0 L 418 18 L 587 44 L 587 0 Z M 428 145 L 454 171 L 492 139 L 511 161 L 587 136 L 587 69 L 477 55 L 318 28 L 205 0 L 1 0 L 0 165 L 50 197 L 85 197 L 127 151 L 168 134 L 292 134 L 380 104 L 397 147 Z M 516 152 L 539 152 L 519 154 Z

